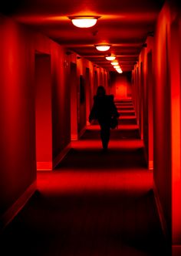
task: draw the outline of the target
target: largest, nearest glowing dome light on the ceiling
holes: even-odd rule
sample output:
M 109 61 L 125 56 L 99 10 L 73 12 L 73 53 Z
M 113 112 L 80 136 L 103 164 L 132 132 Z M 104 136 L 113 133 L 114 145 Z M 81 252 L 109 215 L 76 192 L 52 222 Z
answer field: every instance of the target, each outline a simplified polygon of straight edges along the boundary
M 78 28 L 91 28 L 97 23 L 97 19 L 100 16 L 68 16 L 68 19 L 71 19 L 71 22 Z

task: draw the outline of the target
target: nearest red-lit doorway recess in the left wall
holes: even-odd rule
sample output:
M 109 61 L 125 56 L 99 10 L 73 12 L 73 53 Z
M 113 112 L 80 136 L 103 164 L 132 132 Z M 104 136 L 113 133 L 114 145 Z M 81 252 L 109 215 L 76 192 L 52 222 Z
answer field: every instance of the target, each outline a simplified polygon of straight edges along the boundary
M 35 53 L 37 170 L 52 170 L 51 56 Z

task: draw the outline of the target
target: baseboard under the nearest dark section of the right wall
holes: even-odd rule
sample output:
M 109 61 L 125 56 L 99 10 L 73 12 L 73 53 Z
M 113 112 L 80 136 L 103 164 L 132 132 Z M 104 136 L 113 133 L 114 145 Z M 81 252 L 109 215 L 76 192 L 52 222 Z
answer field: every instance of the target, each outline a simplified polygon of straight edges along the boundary
M 163 208 L 162 208 L 162 205 L 160 203 L 159 194 L 158 194 L 158 191 L 156 189 L 155 184 L 153 184 L 153 192 L 154 192 L 154 197 L 155 197 L 155 200 L 156 200 L 156 207 L 157 207 L 157 211 L 158 211 L 158 214 L 159 214 L 162 231 L 163 231 L 163 234 L 164 234 L 166 240 L 169 240 L 168 230 L 167 230 L 167 227 L 166 227 L 166 219 L 165 219 L 164 214 L 163 214 Z

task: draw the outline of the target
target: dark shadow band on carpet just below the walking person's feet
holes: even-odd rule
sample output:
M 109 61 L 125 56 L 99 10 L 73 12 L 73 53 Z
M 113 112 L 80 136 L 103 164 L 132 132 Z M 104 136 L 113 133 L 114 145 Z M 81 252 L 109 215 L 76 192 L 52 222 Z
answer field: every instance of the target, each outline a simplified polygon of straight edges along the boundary
M 77 150 L 71 149 L 64 160 L 58 164 L 59 168 L 74 170 L 120 170 L 122 168 L 146 168 L 146 160 L 143 157 L 143 148 L 114 150 L 103 152 L 95 149 Z

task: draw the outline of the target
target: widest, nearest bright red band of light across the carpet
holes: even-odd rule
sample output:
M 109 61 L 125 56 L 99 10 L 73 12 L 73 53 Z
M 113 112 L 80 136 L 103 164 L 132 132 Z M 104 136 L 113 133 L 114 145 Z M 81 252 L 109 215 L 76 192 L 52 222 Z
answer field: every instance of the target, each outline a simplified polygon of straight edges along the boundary
M 38 190 L 41 192 L 69 194 L 80 192 L 118 191 L 137 193 L 153 188 L 152 173 L 143 170 L 121 170 L 110 173 L 94 170 L 74 172 L 74 170 L 38 173 Z

